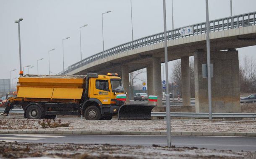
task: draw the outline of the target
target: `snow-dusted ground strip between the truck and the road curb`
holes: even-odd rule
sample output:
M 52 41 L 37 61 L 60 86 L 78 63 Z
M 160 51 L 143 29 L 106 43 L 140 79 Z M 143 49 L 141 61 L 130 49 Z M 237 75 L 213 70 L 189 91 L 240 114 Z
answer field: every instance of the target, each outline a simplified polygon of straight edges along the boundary
M 61 121 L 58 121 L 61 120 Z M 42 128 L 39 121 L 15 118 L 0 118 L 0 130 L 77 130 L 77 131 L 166 131 L 165 120 L 81 120 L 78 118 L 57 119 L 69 123 L 68 127 Z M 256 132 L 255 120 L 172 120 L 173 132 Z

